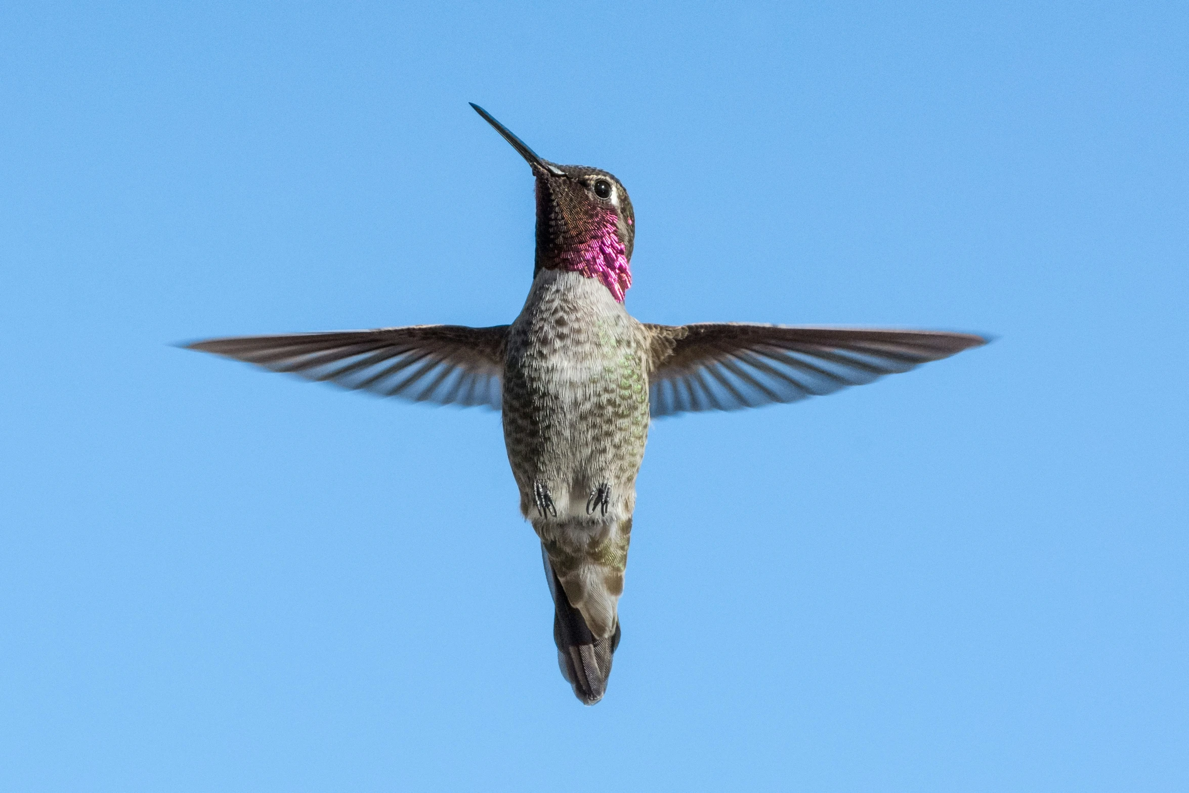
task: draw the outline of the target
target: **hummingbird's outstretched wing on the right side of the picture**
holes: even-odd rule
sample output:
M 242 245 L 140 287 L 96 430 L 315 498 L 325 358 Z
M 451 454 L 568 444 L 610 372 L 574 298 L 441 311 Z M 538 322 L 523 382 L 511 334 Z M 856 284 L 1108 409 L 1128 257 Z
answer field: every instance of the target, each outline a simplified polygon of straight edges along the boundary
M 747 322 L 644 327 L 652 338 L 654 417 L 795 402 L 987 344 L 982 336 L 938 331 Z

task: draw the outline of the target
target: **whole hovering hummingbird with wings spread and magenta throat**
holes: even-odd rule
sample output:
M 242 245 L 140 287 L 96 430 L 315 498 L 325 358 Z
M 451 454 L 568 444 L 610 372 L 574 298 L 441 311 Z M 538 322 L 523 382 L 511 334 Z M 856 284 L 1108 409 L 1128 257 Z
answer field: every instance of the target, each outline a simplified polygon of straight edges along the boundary
M 191 350 L 348 389 L 503 414 L 521 514 L 541 540 L 561 674 L 606 691 L 652 418 L 795 402 L 906 372 L 987 339 L 747 322 L 666 326 L 623 307 L 636 219 L 623 184 L 539 157 L 478 105 L 536 181 L 536 259 L 511 325 L 210 339 Z

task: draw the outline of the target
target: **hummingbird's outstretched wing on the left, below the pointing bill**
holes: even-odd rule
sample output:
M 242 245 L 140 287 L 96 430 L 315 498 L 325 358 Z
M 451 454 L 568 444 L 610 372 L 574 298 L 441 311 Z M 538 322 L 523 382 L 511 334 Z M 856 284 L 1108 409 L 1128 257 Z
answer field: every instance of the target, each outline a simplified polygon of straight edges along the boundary
M 498 409 L 507 335 L 507 325 L 415 325 L 209 339 L 183 346 L 380 396 Z

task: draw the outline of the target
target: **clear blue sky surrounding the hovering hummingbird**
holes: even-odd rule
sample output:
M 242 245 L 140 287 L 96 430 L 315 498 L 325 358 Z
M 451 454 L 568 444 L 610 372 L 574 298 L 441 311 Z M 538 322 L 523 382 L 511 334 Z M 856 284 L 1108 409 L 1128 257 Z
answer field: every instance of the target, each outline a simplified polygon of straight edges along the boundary
M 1183 2 L 10 4 L 0 788 L 1184 791 Z M 606 699 L 498 417 L 210 335 L 628 308 L 984 348 L 658 423 Z

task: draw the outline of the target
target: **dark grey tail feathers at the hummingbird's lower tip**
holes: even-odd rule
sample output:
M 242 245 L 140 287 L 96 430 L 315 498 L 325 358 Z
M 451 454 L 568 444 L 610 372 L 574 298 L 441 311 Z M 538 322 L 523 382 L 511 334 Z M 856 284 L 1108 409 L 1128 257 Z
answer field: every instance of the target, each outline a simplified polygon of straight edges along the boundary
M 611 656 L 619 647 L 619 624 L 616 622 L 615 634 L 608 638 L 594 638 L 581 611 L 570 605 L 566 591 L 561 589 L 558 574 L 553 572 L 549 555 L 541 548 L 545 558 L 545 577 L 549 580 L 549 594 L 553 596 L 553 641 L 558 644 L 558 666 L 564 676 L 574 687 L 574 697 L 584 705 L 593 705 L 606 693 L 606 679 L 611 674 Z

